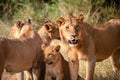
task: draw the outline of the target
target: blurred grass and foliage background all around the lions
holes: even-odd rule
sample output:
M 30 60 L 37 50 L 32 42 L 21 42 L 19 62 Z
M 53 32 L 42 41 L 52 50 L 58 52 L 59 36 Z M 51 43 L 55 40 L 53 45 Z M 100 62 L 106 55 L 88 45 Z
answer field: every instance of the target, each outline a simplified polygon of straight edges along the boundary
M 0 36 L 7 37 L 18 20 L 30 18 L 38 30 L 44 20 L 55 22 L 57 17 L 64 17 L 70 10 L 75 15 L 84 14 L 85 21 L 97 27 L 112 18 L 120 18 L 120 0 L 0 0 Z M 66 47 L 62 48 L 66 58 Z M 79 74 L 85 78 L 85 63 L 80 63 Z M 120 80 L 112 71 L 109 59 L 97 63 L 95 80 Z

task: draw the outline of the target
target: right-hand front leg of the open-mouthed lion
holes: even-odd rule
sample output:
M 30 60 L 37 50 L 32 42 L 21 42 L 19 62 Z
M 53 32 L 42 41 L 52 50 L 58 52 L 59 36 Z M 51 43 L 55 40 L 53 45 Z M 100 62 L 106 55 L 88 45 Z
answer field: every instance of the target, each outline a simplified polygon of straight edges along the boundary
M 91 54 L 92 55 L 92 54 Z M 93 80 L 96 57 L 95 55 L 89 56 L 86 64 L 86 80 Z

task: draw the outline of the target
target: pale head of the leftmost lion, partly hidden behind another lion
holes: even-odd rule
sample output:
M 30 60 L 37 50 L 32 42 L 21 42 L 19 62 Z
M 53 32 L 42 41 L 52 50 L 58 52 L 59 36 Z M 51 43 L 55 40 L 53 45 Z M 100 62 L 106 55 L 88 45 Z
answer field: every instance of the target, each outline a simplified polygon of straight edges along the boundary
M 9 37 L 11 39 L 17 39 L 19 38 L 19 35 L 20 35 L 20 31 L 22 29 L 22 27 L 25 25 L 25 24 L 31 24 L 31 20 L 28 19 L 28 20 L 25 20 L 25 21 L 17 21 L 14 26 L 12 27 L 11 29 L 11 32 L 9 34 Z

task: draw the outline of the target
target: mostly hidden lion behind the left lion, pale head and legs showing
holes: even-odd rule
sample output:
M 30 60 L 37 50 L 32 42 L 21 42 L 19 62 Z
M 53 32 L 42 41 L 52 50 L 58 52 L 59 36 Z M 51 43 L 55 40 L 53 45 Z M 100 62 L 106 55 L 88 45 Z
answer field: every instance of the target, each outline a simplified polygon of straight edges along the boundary
M 12 27 L 11 29 L 11 32 L 9 34 L 9 38 L 10 39 L 19 39 L 19 36 L 20 36 L 20 31 L 23 27 L 24 24 L 31 24 L 31 20 L 30 19 L 27 19 L 27 20 L 24 20 L 24 21 L 17 21 L 14 26 Z M 27 28 L 26 28 L 27 29 Z M 22 32 L 21 32 L 22 33 Z M 25 38 L 25 37 L 24 37 Z M 27 37 L 26 37 L 27 38 Z M 26 74 L 26 75 L 24 75 Z M 10 74 L 9 74 L 10 75 Z M 14 74 L 16 75 L 16 78 L 17 79 L 20 79 L 20 80 L 28 80 L 28 79 L 33 79 L 33 74 L 32 74 L 32 71 L 31 69 L 27 70 L 27 71 L 24 71 L 23 72 L 20 72 L 20 73 L 17 73 L 17 74 Z M 13 76 L 14 76 L 13 75 Z M 4 77 L 3 77 L 4 78 Z

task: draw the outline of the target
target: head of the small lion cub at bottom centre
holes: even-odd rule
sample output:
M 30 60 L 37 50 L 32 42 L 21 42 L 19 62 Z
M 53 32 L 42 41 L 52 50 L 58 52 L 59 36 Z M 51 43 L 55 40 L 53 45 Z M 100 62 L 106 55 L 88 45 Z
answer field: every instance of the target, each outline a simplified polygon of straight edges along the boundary
M 45 55 L 45 63 L 48 65 L 54 64 L 59 60 L 60 57 L 60 46 L 42 46 Z

